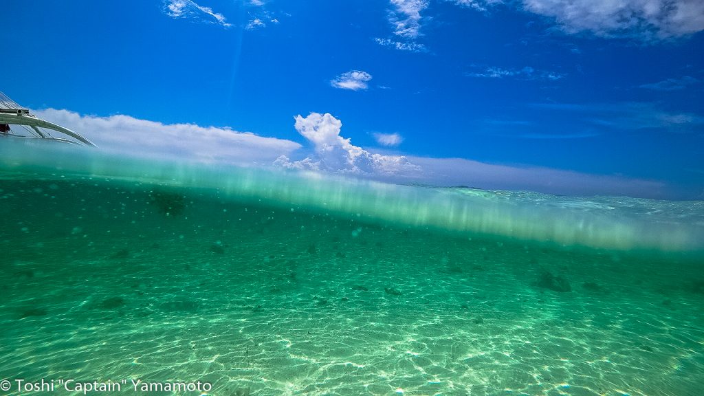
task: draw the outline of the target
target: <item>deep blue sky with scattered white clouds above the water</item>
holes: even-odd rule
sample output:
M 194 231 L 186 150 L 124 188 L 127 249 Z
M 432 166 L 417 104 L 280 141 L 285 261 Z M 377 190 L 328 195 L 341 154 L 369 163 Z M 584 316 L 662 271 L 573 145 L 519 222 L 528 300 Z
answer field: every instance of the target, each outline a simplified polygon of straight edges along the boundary
M 101 147 L 127 147 L 106 137 L 125 123 L 191 128 L 168 149 L 188 154 L 242 131 L 246 153 L 194 156 L 704 198 L 699 0 L 9 0 L 3 14 L 0 90 Z

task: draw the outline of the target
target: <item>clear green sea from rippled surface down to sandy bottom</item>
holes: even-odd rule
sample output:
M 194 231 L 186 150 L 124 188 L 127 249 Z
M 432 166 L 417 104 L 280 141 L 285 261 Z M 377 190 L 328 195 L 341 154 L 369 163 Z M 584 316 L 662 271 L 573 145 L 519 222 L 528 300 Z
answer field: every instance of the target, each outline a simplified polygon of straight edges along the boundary
M 1 395 L 704 395 L 704 202 L 0 142 Z

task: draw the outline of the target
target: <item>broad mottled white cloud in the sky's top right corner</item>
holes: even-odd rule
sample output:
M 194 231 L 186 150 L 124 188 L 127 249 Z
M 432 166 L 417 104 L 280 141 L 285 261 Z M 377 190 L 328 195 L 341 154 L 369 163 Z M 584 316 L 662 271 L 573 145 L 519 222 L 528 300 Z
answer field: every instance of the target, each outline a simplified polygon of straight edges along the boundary
M 567 33 L 668 38 L 704 30 L 701 0 L 522 0 L 527 11 L 555 18 Z

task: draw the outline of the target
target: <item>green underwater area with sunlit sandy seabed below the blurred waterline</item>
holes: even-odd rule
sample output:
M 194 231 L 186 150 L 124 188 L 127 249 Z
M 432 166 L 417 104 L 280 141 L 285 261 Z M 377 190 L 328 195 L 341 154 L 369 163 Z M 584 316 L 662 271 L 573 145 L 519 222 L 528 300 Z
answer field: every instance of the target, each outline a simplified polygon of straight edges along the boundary
M 0 378 L 201 381 L 213 395 L 702 394 L 700 255 L 137 182 L 1 180 L 0 197 Z

